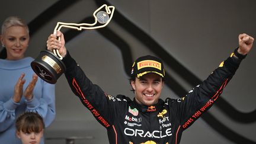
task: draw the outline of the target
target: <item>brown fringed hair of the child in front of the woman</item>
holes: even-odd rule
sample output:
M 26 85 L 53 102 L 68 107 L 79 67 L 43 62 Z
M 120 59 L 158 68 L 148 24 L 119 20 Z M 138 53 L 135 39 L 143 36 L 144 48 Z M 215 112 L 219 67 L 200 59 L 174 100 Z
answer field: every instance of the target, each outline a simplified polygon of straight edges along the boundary
M 24 133 L 39 133 L 44 129 L 44 121 L 38 113 L 25 112 L 17 118 L 15 126 L 17 132 L 21 130 Z

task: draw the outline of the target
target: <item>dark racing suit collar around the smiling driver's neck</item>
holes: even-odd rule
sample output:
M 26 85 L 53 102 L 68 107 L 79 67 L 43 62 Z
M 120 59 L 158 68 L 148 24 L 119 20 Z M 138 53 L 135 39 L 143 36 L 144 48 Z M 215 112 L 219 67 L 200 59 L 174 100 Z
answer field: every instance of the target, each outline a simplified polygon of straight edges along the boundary
M 137 103 L 135 98 L 133 98 L 133 103 L 135 104 L 135 107 L 137 108 L 137 110 L 142 111 L 142 113 L 146 113 L 146 112 L 153 113 L 153 112 L 161 111 L 164 105 L 164 101 L 160 98 L 157 104 L 154 104 L 151 106 L 139 104 Z

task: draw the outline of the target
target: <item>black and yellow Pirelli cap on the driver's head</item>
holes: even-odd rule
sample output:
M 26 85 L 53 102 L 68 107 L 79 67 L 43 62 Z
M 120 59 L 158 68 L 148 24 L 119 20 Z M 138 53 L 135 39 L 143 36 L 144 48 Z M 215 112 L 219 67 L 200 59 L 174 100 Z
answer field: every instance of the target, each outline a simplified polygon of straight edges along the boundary
M 137 58 L 132 65 L 132 72 L 130 73 L 131 78 L 140 78 L 140 76 L 146 73 L 156 73 L 164 78 L 165 71 L 162 60 L 150 55 Z

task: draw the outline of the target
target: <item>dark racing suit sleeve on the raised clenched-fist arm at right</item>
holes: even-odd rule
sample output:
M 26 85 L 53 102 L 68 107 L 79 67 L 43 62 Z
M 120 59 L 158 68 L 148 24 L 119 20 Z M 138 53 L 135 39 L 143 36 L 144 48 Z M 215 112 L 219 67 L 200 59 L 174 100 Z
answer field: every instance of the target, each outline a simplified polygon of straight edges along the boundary
M 241 59 L 232 53 L 206 80 L 193 88 L 185 97 L 175 101 L 174 111 L 183 129 L 187 129 L 201 114 L 216 103 L 240 63 Z

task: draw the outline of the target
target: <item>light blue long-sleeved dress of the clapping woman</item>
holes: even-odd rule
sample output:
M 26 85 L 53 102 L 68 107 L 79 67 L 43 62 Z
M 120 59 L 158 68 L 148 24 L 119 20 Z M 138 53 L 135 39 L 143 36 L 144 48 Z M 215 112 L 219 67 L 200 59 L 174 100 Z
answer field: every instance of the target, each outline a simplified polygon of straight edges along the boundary
M 21 140 L 15 135 L 15 120 L 24 111 L 39 113 L 44 120 L 45 126 L 49 126 L 55 119 L 55 85 L 48 84 L 38 79 L 30 101 L 21 98 L 19 103 L 12 100 L 14 86 L 25 73 L 23 91 L 32 79 L 34 71 L 30 63 L 34 59 L 25 57 L 20 60 L 0 59 L 0 142 L 2 144 L 21 144 Z M 44 140 L 41 139 L 41 143 Z

